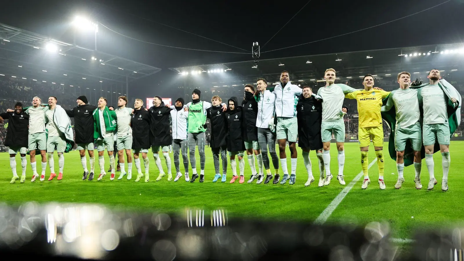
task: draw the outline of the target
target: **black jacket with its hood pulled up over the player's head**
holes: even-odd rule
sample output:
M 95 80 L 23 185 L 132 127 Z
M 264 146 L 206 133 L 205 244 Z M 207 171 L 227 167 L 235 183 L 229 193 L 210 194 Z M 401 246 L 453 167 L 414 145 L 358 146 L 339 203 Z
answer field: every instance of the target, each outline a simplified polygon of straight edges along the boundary
M 234 105 L 238 105 L 237 97 L 231 97 L 229 101 L 233 101 Z M 230 109 L 226 112 L 227 121 L 227 150 L 229 151 L 244 151 L 244 133 L 243 133 L 243 115 L 242 107 L 235 106 L 234 110 Z

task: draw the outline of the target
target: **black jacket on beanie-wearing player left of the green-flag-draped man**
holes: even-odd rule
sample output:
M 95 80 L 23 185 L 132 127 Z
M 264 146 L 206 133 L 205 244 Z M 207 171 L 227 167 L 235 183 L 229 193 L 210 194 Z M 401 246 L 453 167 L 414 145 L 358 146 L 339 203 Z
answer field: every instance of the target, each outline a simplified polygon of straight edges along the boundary
M 74 118 L 74 131 L 76 132 L 76 143 L 87 144 L 94 141 L 93 114 L 97 106 L 84 104 L 77 105 L 71 110 L 66 110 L 69 117 Z

